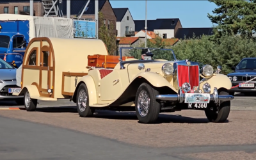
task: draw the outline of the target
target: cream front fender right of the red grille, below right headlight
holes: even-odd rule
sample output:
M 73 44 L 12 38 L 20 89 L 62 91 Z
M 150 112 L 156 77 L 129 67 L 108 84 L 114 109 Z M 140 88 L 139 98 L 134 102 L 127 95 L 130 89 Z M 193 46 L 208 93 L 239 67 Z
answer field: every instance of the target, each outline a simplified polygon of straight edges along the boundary
M 213 88 L 216 87 L 217 90 L 220 88 L 225 88 L 227 90 L 230 90 L 232 87 L 232 83 L 230 79 L 224 75 L 224 74 L 216 74 L 216 76 L 212 76 L 210 79 L 202 79 L 202 83 L 200 83 L 200 89 L 202 90 L 202 87 L 205 83 L 209 83 L 211 85 L 211 93 L 213 93 Z

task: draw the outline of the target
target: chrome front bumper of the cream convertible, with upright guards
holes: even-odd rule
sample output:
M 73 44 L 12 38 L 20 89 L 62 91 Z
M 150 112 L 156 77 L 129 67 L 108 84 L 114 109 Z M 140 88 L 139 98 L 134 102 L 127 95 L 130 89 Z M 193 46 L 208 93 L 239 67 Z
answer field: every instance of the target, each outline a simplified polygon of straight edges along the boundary
M 210 96 L 211 96 L 210 100 L 211 101 L 213 100 L 214 103 L 216 104 L 218 103 L 219 100 L 228 101 L 228 100 L 234 99 L 232 95 L 219 95 L 216 87 L 214 87 L 214 91 Z M 182 103 L 185 100 L 185 94 L 183 94 L 182 89 L 180 89 L 177 95 L 157 95 L 156 99 L 168 100 L 168 101 L 179 101 L 180 103 Z

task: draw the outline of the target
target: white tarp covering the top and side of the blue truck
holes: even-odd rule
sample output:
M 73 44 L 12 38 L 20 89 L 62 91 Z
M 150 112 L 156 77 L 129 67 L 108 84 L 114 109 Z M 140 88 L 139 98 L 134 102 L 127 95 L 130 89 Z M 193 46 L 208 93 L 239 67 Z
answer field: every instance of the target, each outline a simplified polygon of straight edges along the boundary
M 19 14 L 0 14 L 0 20 L 29 20 L 29 40 L 35 37 L 74 38 L 72 19 L 61 17 L 36 17 Z

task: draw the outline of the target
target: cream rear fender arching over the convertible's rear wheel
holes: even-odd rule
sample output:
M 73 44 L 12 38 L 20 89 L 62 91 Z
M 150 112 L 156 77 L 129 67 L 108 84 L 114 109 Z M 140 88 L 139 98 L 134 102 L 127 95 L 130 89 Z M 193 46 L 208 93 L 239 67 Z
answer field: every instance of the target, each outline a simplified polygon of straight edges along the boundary
M 89 75 L 83 76 L 77 81 L 76 90 L 75 90 L 74 94 L 72 95 L 72 98 L 70 99 L 70 101 L 72 100 L 73 102 L 76 103 L 77 90 L 78 90 L 80 84 L 82 84 L 82 83 L 84 83 L 86 85 L 87 90 L 88 90 L 89 106 L 92 106 L 92 104 L 97 104 L 97 92 L 96 92 L 96 88 L 95 88 L 95 83 L 93 81 L 92 76 L 89 76 Z

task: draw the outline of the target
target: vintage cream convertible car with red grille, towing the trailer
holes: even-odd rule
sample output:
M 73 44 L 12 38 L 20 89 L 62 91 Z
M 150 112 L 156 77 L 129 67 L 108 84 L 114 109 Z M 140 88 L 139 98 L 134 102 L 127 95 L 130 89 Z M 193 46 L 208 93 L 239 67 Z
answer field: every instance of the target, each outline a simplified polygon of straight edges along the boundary
M 135 110 L 138 120 L 148 124 L 164 111 L 199 109 L 211 122 L 227 120 L 234 97 L 227 92 L 232 86 L 230 79 L 219 74 L 220 68 L 214 72 L 211 65 L 204 65 L 200 74 L 198 63 L 176 60 L 172 49 L 150 49 L 153 54 L 172 52 L 172 61 L 124 61 L 122 49 L 134 48 L 120 48 L 115 68 L 88 66 L 88 75 L 78 79 L 70 100 L 77 104 L 79 116 L 92 116 L 95 109 Z

